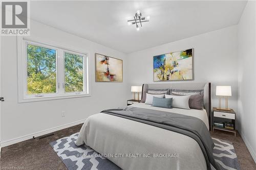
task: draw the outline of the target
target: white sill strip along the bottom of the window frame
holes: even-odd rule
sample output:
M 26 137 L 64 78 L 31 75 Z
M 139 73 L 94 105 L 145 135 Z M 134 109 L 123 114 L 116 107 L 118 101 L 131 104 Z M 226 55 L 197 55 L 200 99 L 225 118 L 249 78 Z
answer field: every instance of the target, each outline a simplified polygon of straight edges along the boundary
M 90 97 L 91 94 L 64 94 L 64 95 L 54 95 L 54 96 L 40 96 L 40 97 L 30 97 L 19 99 L 18 103 L 27 103 L 27 102 L 39 102 L 39 101 L 51 101 L 59 99 L 71 99 L 71 98 L 84 98 Z

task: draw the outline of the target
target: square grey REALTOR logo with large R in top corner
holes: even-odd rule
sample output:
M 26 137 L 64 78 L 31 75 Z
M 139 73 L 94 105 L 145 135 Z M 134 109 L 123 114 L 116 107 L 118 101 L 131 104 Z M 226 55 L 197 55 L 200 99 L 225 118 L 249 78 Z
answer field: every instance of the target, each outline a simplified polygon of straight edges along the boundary
M 2 2 L 1 35 L 29 34 L 29 2 Z

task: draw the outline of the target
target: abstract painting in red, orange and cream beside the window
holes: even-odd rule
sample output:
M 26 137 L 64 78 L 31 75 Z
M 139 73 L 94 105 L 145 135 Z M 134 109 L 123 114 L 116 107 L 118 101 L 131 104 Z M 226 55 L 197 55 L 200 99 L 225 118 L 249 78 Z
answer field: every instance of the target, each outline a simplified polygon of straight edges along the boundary
M 123 61 L 95 53 L 96 82 L 122 82 Z

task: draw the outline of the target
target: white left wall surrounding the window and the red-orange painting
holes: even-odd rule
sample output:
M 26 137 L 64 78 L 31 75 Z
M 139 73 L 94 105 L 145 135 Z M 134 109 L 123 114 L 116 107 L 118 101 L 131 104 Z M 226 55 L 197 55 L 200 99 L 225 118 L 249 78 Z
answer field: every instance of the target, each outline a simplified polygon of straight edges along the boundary
M 86 98 L 63 99 L 31 103 L 18 103 L 17 96 L 17 41 L 16 37 L 1 37 L 1 91 L 5 97 L 1 107 L 1 139 L 8 140 L 62 126 L 87 118 L 103 109 L 126 104 L 125 54 L 109 47 L 74 36 L 69 33 L 31 21 L 31 36 L 55 42 L 62 46 L 76 46 L 89 51 L 91 56 L 91 91 Z M 123 83 L 96 83 L 94 53 L 123 60 Z M 61 111 L 66 117 L 61 117 Z M 32 136 L 29 136 L 32 138 Z M 3 144 L 4 145 L 4 144 Z

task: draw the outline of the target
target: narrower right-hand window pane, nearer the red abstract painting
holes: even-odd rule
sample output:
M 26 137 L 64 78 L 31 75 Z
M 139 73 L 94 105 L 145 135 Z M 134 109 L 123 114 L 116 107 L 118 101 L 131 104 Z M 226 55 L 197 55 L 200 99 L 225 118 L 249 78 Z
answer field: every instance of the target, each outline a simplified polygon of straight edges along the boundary
M 65 54 L 65 91 L 83 91 L 83 56 Z

